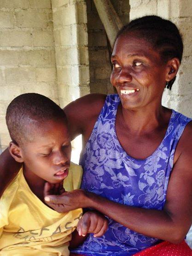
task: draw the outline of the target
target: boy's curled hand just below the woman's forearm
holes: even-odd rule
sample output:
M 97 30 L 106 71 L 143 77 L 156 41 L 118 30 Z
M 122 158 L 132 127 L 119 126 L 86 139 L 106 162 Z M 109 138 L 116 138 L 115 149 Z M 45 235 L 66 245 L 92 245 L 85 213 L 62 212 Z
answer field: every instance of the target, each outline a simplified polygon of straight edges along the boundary
M 83 214 L 78 222 L 77 232 L 80 236 L 86 236 L 88 233 L 94 233 L 94 237 L 100 237 L 105 234 L 108 228 L 108 221 L 104 215 L 88 211 Z

